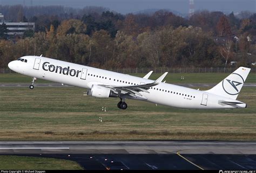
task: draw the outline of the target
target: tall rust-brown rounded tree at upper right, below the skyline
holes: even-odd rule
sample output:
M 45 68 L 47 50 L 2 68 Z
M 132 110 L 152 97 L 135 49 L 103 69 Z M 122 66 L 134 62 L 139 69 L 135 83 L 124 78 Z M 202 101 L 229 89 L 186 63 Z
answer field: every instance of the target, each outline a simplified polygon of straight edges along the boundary
M 229 36 L 231 34 L 231 27 L 225 16 L 221 16 L 217 23 L 216 29 L 220 37 Z

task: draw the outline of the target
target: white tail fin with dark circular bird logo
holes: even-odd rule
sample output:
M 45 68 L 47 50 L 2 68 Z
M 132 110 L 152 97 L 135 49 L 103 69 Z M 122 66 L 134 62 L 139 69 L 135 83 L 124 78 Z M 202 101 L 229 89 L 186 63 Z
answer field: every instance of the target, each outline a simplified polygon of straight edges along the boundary
M 223 81 L 219 82 L 218 85 L 206 92 L 236 100 L 250 70 L 251 68 L 239 67 Z

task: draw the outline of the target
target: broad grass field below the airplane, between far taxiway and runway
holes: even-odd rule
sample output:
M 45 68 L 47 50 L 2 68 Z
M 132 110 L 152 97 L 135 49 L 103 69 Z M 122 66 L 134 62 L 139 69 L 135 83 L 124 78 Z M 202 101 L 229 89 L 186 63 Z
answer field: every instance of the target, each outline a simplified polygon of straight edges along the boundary
M 76 87 L 0 87 L 0 140 L 256 141 L 255 88 L 242 88 L 238 100 L 248 108 L 233 110 L 156 107 L 134 100 L 120 110 L 116 98 L 83 92 Z

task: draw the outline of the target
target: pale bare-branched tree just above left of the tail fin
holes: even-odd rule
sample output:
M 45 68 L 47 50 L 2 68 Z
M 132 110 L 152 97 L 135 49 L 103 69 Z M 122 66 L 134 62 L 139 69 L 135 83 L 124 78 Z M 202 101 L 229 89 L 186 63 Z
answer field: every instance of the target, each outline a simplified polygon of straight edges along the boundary
M 226 40 L 225 44 L 219 47 L 219 52 L 222 58 L 225 59 L 225 66 L 227 66 L 227 61 L 233 56 L 233 41 Z

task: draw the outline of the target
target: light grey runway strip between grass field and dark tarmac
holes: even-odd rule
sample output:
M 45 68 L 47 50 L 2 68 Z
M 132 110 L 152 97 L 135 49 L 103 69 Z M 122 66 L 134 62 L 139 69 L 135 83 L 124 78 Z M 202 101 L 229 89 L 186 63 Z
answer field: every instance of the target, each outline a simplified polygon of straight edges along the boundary
M 0 154 L 256 154 L 256 142 L 0 142 Z

